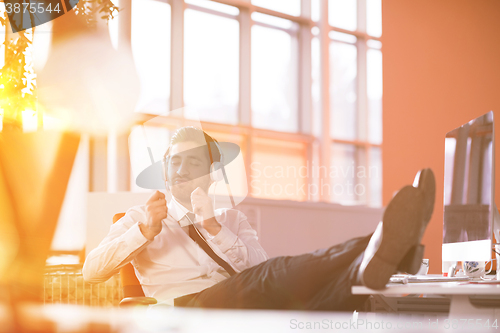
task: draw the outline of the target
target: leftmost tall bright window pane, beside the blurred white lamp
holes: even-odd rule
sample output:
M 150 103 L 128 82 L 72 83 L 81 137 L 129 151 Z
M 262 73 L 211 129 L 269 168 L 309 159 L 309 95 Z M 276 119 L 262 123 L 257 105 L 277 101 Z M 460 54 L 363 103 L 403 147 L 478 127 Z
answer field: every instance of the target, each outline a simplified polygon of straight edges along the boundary
M 152 20 L 151 13 L 162 19 Z M 169 4 L 155 0 L 132 1 L 132 52 L 141 82 L 136 111 L 165 113 L 170 99 Z

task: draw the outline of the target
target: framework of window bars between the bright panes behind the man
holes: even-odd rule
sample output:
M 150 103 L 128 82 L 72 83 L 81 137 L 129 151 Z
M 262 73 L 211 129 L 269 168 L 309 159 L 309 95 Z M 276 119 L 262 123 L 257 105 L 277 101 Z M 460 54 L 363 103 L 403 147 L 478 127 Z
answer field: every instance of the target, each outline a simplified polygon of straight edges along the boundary
M 140 0 L 120 0 L 121 8 L 131 8 L 131 1 Z M 382 143 L 373 143 L 369 140 L 368 117 L 368 97 L 367 97 L 367 51 L 369 49 L 368 41 L 377 41 L 380 43 L 380 37 L 371 36 L 366 32 L 366 2 L 370 0 L 357 0 L 357 29 L 354 31 L 331 26 L 328 23 L 328 1 L 320 1 L 320 20 L 315 22 L 311 18 L 312 0 L 301 0 L 301 15 L 293 16 L 279 11 L 264 7 L 255 6 L 251 0 L 206 0 L 221 4 L 234 6 L 239 9 L 238 15 L 230 15 L 213 9 L 186 3 L 184 0 L 155 0 L 168 3 L 171 6 L 171 69 L 170 69 L 170 105 L 166 109 L 175 110 L 184 106 L 183 102 L 183 43 L 184 43 L 184 10 L 192 9 L 205 12 L 212 15 L 238 20 L 240 27 L 239 40 L 239 105 L 238 105 L 238 124 L 228 125 L 202 121 L 202 126 L 207 131 L 217 131 L 230 134 L 238 134 L 245 143 L 245 164 L 246 169 L 250 170 L 252 163 L 252 140 L 253 138 L 277 139 L 289 142 L 300 142 L 307 146 L 305 160 L 319 160 L 321 166 L 330 165 L 331 147 L 335 144 L 346 144 L 362 149 L 366 153 L 366 165 L 370 165 L 372 148 L 378 148 L 382 151 Z M 126 11 L 131 13 L 130 10 Z M 262 13 L 285 20 L 289 20 L 298 25 L 298 29 L 285 29 L 252 20 L 252 13 Z M 123 17 L 123 16 L 122 16 Z M 120 24 L 120 32 L 125 36 L 131 36 L 131 18 L 125 18 L 125 23 Z M 298 40 L 298 131 L 279 132 L 267 129 L 252 127 L 252 107 L 251 107 L 251 28 L 253 25 L 261 25 L 273 29 L 281 29 L 297 36 Z M 313 106 L 311 92 L 311 41 L 314 37 L 311 29 L 319 29 L 320 40 L 320 120 L 321 131 L 319 135 L 313 134 Z M 360 135 L 355 140 L 334 139 L 330 133 L 330 96 L 329 96 L 329 44 L 332 39 L 329 37 L 330 31 L 336 31 L 356 37 L 357 48 L 357 130 Z M 380 47 L 381 49 L 381 47 Z M 138 123 L 153 118 L 155 115 L 144 114 Z M 189 123 L 189 120 L 186 120 Z M 361 139 L 360 139 L 361 138 Z M 357 165 L 357 161 L 354 161 Z M 309 184 L 320 183 L 321 176 L 314 176 L 312 173 L 308 177 Z M 248 188 L 250 186 L 250 177 L 247 179 Z M 328 182 L 328 180 L 324 180 Z M 367 196 L 359 201 L 359 204 L 370 203 L 370 183 L 368 182 Z M 308 188 L 308 187 L 307 187 Z M 252 195 L 252 192 L 249 192 Z M 311 197 L 308 195 L 308 197 Z M 328 193 L 312 196 L 314 201 L 331 201 Z

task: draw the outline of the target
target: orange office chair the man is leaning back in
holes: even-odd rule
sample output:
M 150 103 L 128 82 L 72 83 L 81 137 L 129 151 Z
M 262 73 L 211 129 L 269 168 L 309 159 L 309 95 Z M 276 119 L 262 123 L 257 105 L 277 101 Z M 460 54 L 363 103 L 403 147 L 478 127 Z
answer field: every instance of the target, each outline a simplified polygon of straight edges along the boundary
M 113 223 L 121 219 L 124 215 L 125 213 L 115 214 L 113 216 Z M 155 298 L 144 296 L 144 291 L 139 280 L 137 280 L 134 267 L 131 263 L 126 264 L 120 269 L 120 281 L 123 288 L 123 299 L 120 302 L 120 307 L 157 303 Z

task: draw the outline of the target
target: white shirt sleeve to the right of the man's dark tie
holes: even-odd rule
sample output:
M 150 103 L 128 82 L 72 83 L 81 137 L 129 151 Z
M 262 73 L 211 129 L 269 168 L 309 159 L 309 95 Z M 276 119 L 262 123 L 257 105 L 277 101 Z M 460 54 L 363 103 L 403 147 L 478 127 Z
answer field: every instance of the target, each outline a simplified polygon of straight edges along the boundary
M 240 211 L 228 210 L 225 223 L 211 241 L 224 253 L 235 270 L 243 271 L 269 259 L 260 245 L 257 232 Z M 235 217 L 231 216 L 236 214 Z

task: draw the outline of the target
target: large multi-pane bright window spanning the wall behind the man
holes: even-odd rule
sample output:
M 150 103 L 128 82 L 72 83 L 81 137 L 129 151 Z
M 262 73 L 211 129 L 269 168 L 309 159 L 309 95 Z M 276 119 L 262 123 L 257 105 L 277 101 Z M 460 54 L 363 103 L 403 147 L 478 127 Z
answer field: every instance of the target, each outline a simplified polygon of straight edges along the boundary
M 251 196 L 381 206 L 381 0 L 131 6 L 138 112 L 197 111 L 242 147 Z

